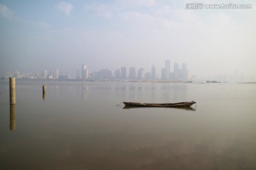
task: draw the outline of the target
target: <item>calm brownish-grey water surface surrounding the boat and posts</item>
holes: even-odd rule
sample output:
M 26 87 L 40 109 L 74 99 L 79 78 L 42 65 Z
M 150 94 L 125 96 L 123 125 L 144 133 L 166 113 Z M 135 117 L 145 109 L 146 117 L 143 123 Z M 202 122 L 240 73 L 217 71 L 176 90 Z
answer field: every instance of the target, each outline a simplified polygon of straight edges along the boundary
M 256 84 L 17 80 L 10 106 L 0 81 L 0 169 L 256 169 L 255 160 Z

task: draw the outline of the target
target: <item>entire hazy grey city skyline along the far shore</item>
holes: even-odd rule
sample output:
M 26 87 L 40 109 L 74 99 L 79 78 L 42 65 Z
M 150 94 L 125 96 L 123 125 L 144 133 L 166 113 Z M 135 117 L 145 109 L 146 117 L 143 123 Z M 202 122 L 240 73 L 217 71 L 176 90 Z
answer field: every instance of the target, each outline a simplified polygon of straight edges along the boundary
M 156 72 L 154 64 L 151 66 L 151 72 L 144 68 L 135 67 L 119 67 L 115 70 L 102 68 L 97 71 L 90 71 L 86 64 L 81 65 L 81 69 L 76 70 L 76 74 L 63 73 L 59 69 L 49 71 L 43 69 L 40 73 L 21 73 L 18 71 L 7 72 L 1 79 L 8 77 L 25 78 L 25 79 L 78 79 L 82 81 L 100 81 L 100 80 L 161 80 L 161 81 L 193 81 L 193 82 L 206 82 L 206 81 L 220 81 L 220 82 L 249 82 L 256 81 L 255 77 L 248 77 L 245 74 L 240 74 L 238 69 L 230 74 L 216 74 L 208 77 L 198 77 L 197 75 L 188 72 L 186 63 L 174 62 L 171 66 L 170 60 L 165 60 L 165 67 L 161 68 L 161 72 Z M 167 68 L 167 69 L 166 69 Z M 129 71 L 128 71 L 129 70 Z M 169 70 L 166 72 L 166 70 Z M 122 74 L 121 74 L 122 73 Z M 169 73 L 169 77 L 166 74 Z

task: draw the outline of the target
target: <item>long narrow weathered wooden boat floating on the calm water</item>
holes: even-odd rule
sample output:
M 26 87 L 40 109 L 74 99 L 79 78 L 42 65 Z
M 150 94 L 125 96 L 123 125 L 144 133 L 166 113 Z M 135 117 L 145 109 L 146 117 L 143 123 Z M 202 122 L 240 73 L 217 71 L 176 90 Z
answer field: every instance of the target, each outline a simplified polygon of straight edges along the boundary
M 134 102 L 123 102 L 125 106 L 132 107 L 166 107 L 166 108 L 178 108 L 178 107 L 189 107 L 196 103 L 196 101 L 179 102 L 179 103 L 134 103 Z

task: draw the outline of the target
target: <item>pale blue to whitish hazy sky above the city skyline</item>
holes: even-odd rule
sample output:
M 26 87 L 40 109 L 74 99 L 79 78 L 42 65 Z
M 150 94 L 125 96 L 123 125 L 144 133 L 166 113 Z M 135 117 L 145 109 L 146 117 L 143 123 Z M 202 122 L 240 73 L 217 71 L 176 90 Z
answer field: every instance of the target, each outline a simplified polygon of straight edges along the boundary
M 198 76 L 256 74 L 256 1 L 251 9 L 186 9 L 193 1 L 0 0 L 0 75 L 56 68 L 75 74 L 122 66 L 157 72 L 165 60 Z

